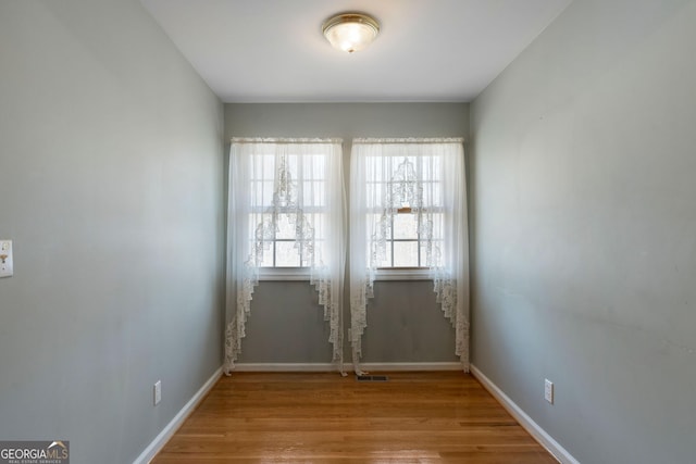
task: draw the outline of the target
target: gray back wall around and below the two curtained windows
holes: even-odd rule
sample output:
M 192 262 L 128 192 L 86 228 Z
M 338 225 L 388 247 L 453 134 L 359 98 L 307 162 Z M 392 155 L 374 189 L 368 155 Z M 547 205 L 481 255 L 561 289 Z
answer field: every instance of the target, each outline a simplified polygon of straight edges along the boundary
M 353 137 L 463 137 L 465 103 L 226 104 L 225 138 L 341 137 L 346 180 Z M 363 362 L 452 362 L 455 334 L 430 281 L 381 281 L 368 306 Z M 345 303 L 349 326 L 348 301 Z M 309 283 L 262 281 L 239 363 L 328 363 L 328 329 Z M 347 338 L 346 338 L 347 340 Z M 346 361 L 350 361 L 346 343 Z

